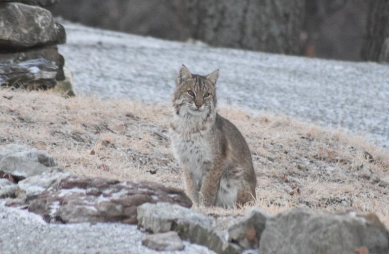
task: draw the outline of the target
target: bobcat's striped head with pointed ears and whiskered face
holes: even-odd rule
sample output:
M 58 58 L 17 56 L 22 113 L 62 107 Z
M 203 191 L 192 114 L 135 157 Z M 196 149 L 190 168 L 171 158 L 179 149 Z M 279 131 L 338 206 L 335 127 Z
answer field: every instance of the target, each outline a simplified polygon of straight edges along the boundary
M 173 106 L 179 116 L 190 114 L 208 118 L 216 110 L 216 81 L 219 70 L 207 76 L 192 74 L 182 65 L 173 94 Z

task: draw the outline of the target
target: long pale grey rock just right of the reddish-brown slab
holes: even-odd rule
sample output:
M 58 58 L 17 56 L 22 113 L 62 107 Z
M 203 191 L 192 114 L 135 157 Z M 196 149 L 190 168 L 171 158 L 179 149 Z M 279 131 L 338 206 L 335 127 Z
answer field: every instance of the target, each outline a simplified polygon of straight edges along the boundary
M 239 246 L 228 243 L 226 234 L 215 229 L 215 222 L 191 209 L 169 203 L 145 203 L 138 207 L 138 227 L 152 233 L 176 231 L 181 239 L 207 246 L 217 253 L 239 253 Z

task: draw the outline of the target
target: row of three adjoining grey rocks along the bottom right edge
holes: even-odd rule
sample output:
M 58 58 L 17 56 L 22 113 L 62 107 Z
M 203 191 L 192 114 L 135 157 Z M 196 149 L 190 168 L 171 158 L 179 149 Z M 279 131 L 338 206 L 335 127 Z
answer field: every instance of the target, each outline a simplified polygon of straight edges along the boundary
M 167 203 L 143 204 L 138 207 L 138 227 L 152 233 L 176 231 L 181 239 L 217 253 L 389 253 L 385 226 L 375 215 L 356 212 L 295 208 L 272 218 L 254 208 L 227 233 L 196 211 Z

